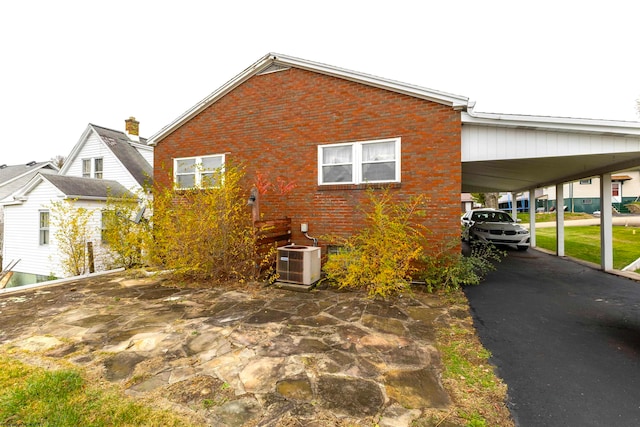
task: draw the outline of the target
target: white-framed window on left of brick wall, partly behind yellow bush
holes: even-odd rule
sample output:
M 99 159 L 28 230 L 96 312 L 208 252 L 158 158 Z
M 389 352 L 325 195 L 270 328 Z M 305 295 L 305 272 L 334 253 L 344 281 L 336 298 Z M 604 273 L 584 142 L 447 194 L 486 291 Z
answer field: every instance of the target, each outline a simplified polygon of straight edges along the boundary
M 224 154 L 174 159 L 174 182 L 177 188 L 215 187 L 223 167 Z

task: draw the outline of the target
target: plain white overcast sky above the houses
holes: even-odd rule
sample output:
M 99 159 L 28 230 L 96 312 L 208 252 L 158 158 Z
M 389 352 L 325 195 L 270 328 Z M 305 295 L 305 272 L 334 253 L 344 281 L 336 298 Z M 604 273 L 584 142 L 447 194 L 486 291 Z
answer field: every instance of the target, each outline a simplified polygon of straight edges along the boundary
M 87 124 L 150 137 L 268 52 L 449 92 L 476 111 L 639 120 L 640 2 L 0 3 L 0 164 Z M 639 124 L 640 126 L 640 124 Z

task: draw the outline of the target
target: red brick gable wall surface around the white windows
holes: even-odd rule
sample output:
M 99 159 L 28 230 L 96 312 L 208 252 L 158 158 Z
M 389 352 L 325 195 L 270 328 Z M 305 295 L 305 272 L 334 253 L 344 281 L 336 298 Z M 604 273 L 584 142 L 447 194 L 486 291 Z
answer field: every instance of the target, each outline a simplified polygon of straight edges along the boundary
M 460 113 L 300 69 L 252 77 L 159 142 L 154 179 L 170 184 L 173 158 L 226 153 L 227 162 L 246 166 L 250 180 L 260 173 L 296 185 L 285 196 L 272 186 L 260 208 L 265 218 L 290 216 L 292 240 L 310 244 L 300 223 L 311 236 L 348 235 L 361 224 L 357 206 L 366 198 L 364 186 L 318 186 L 317 146 L 390 137 L 402 138 L 394 195 L 426 195 L 434 236 L 459 239 Z

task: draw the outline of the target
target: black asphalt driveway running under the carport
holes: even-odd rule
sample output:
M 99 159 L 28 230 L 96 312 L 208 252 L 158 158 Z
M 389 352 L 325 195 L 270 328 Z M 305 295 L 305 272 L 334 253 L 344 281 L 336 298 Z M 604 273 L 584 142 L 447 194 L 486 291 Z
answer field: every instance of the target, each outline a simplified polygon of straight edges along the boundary
M 517 425 L 640 425 L 639 282 L 510 250 L 465 293 Z

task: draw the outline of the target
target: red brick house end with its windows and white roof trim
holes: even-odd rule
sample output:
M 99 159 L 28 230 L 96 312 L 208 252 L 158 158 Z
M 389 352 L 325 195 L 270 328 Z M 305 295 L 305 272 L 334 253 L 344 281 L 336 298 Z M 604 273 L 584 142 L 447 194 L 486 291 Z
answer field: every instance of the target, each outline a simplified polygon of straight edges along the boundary
M 193 165 L 232 162 L 248 180 L 285 183 L 293 190 L 272 185 L 260 196 L 261 214 L 290 217 L 296 244 L 311 244 L 302 223 L 312 236 L 354 232 L 364 190 L 388 187 L 399 200 L 426 195 L 432 238 L 458 240 L 467 105 L 465 97 L 270 53 L 149 139 L 154 181 L 193 187 L 202 178 Z

